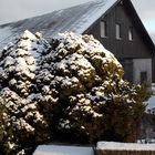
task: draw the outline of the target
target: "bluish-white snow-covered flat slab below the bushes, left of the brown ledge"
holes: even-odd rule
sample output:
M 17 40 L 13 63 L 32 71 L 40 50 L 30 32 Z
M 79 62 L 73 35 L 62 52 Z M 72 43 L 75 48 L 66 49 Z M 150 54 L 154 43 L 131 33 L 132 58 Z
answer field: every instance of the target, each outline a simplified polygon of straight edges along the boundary
M 33 155 L 94 155 L 92 147 L 40 145 Z

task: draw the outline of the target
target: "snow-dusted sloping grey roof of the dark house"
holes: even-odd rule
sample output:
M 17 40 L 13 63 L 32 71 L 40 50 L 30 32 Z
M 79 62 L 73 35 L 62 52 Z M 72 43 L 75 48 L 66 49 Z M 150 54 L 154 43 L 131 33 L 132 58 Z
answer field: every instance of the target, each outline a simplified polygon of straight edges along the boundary
M 3 24 L 0 27 L 0 49 L 27 29 L 33 33 L 41 32 L 45 39 L 56 37 L 59 32 L 64 31 L 81 34 L 116 1 L 95 0 L 48 14 Z

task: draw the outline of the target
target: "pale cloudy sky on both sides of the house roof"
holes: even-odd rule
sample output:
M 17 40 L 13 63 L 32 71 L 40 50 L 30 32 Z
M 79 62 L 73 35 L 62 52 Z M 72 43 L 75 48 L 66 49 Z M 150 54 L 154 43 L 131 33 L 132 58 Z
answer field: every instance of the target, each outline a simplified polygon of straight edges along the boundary
M 91 0 L 0 0 L 0 24 L 49 13 Z M 132 0 L 155 42 L 155 0 Z

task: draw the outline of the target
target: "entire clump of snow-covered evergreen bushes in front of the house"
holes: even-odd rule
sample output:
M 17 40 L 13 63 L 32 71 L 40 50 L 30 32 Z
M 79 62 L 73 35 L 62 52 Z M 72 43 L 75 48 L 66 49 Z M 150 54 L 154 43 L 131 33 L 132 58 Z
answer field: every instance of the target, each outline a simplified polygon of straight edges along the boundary
M 25 31 L 0 60 L 6 154 L 52 138 L 134 141 L 141 87 L 123 80 L 122 65 L 93 37 L 66 32 L 48 43 Z

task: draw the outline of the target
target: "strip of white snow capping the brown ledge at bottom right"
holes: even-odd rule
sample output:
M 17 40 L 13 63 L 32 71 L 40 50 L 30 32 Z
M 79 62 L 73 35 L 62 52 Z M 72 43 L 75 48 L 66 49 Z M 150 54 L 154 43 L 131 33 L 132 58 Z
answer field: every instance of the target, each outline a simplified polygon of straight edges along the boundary
M 106 151 L 155 151 L 155 144 L 97 142 L 96 149 Z

